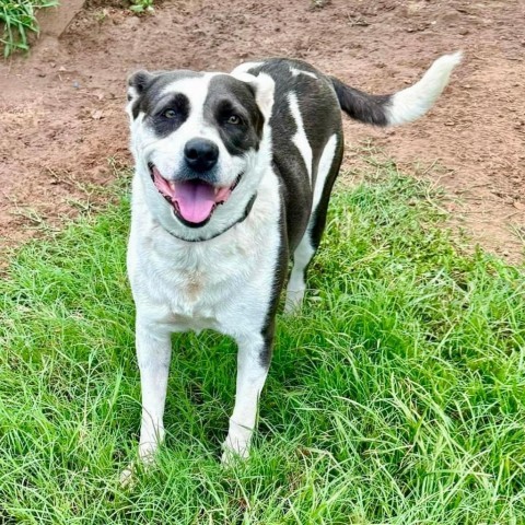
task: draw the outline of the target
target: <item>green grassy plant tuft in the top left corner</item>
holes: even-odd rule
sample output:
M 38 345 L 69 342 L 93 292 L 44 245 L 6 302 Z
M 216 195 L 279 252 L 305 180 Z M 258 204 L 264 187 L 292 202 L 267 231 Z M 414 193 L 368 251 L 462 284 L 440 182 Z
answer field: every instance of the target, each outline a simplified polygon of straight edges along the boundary
M 58 0 L 0 0 L 0 42 L 4 58 L 16 49 L 30 48 L 28 34 L 38 33 L 36 11 L 55 5 Z

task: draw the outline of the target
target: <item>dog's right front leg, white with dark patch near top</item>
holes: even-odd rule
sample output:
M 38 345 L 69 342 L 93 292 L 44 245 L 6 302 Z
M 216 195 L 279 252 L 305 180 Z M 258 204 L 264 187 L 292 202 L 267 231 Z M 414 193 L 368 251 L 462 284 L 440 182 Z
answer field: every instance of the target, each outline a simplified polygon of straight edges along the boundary
M 223 445 L 223 463 L 228 464 L 235 456 L 248 457 L 259 395 L 268 375 L 272 338 L 272 335 L 262 337 L 261 334 L 235 338 L 238 346 L 235 407 Z

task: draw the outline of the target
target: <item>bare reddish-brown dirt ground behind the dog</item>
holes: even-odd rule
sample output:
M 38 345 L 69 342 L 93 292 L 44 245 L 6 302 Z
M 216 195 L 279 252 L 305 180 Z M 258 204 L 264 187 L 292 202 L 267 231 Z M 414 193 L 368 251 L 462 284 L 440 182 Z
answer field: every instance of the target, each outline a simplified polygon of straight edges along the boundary
M 92 1 L 59 39 L 43 37 L 28 58 L 0 65 L 0 236 L 8 243 L 85 206 L 82 185 L 114 177 L 109 158 L 129 163 L 125 81 L 138 68 L 229 71 L 288 56 L 388 93 L 441 54 L 463 49 L 463 65 L 420 121 L 384 130 L 346 119 L 343 167 L 359 165 L 351 147 L 370 139 L 402 170 L 444 186 L 454 223 L 474 242 L 523 261 L 523 0 L 166 0 L 142 18 L 100 7 L 108 3 Z

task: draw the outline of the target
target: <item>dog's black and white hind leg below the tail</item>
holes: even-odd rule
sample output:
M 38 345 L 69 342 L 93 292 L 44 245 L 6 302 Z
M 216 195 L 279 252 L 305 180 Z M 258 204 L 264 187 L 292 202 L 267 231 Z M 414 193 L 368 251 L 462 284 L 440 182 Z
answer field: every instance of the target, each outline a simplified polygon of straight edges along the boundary
M 306 271 L 325 231 L 331 188 L 342 161 L 342 135 L 338 133 L 330 137 L 323 150 L 315 182 L 313 212 L 303 238 L 293 253 L 293 267 L 288 281 L 284 303 L 287 314 L 296 311 L 303 301 L 306 290 Z

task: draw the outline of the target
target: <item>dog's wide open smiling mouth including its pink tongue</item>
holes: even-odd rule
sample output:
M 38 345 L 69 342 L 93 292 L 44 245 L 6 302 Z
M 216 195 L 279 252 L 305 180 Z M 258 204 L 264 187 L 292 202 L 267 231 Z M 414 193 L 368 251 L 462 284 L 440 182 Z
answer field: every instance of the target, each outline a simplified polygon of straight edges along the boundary
M 242 173 L 231 186 L 217 187 L 206 180 L 166 180 L 156 166 L 149 164 L 151 178 L 159 192 L 173 207 L 175 214 L 190 226 L 205 225 L 219 205 L 223 205 L 241 180 Z

